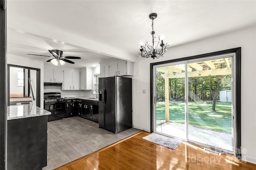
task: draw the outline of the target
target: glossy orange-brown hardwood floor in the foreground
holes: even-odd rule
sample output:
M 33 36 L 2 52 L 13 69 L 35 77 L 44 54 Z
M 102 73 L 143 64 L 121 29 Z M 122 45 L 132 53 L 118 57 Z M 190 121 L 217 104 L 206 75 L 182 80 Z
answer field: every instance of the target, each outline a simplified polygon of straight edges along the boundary
M 255 170 L 256 164 L 234 156 L 217 156 L 201 147 L 181 143 L 175 150 L 148 142 L 142 131 L 55 170 Z

